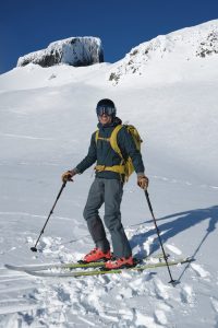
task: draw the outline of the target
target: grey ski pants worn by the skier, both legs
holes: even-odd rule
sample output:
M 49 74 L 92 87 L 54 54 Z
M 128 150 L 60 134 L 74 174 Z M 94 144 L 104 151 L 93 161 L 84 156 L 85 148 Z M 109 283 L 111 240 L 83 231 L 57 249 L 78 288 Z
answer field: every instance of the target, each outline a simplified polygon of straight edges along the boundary
M 123 184 L 120 180 L 95 178 L 83 213 L 96 247 L 106 253 L 110 249 L 110 244 L 106 237 L 106 231 L 98 212 L 105 202 L 105 225 L 111 235 L 113 255 L 119 258 L 132 255 L 121 223 L 120 204 L 122 195 Z

